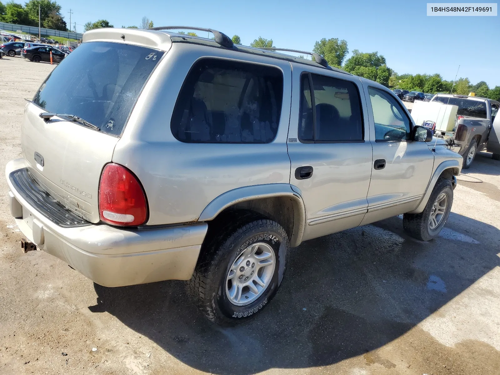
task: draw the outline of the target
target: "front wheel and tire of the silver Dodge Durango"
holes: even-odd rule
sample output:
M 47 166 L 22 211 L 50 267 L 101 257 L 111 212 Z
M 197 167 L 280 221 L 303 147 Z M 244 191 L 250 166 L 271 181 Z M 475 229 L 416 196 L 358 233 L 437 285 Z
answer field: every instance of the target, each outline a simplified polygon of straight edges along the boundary
M 442 209 L 442 216 L 438 217 L 437 225 L 433 225 L 431 223 L 431 214 L 434 210 L 434 203 L 437 203 L 436 201 L 442 194 L 445 194 L 447 199 L 445 205 L 442 200 L 440 201 L 445 208 Z M 453 204 L 453 186 L 451 181 L 449 179 L 439 178 L 432 189 L 432 193 L 423 211 L 420 213 L 403 214 L 404 230 L 413 238 L 422 241 L 428 241 L 435 238 L 448 219 L 449 212 L 451 211 L 451 204 Z M 437 215 L 435 217 L 437 217 Z

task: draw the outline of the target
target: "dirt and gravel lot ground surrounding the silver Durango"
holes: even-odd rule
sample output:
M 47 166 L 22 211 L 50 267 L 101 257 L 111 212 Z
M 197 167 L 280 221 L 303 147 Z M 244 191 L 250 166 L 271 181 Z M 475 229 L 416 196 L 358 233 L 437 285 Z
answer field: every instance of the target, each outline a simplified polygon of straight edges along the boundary
M 0 60 L 2 170 L 52 68 Z M 498 374 L 500 162 L 481 153 L 460 178 L 440 237 L 412 239 L 396 216 L 306 241 L 272 303 L 232 328 L 180 281 L 105 288 L 21 253 L 0 178 L 0 373 Z

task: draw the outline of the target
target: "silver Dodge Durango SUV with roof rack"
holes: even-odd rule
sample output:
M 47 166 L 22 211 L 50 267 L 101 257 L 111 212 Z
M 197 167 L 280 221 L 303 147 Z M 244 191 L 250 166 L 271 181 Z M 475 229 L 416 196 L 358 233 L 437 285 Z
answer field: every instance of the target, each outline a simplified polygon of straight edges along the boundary
M 26 104 L 5 171 L 24 249 L 104 286 L 189 280 L 226 323 L 269 303 L 304 240 L 401 213 L 439 233 L 461 156 L 393 92 L 170 29 L 86 32 Z

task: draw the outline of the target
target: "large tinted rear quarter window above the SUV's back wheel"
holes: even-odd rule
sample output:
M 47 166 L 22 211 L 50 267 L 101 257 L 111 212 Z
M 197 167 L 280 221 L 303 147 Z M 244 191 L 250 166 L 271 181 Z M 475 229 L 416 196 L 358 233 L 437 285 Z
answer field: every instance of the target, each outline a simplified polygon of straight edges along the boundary
M 184 80 L 170 129 L 183 142 L 270 142 L 277 133 L 282 96 L 278 68 L 202 59 Z

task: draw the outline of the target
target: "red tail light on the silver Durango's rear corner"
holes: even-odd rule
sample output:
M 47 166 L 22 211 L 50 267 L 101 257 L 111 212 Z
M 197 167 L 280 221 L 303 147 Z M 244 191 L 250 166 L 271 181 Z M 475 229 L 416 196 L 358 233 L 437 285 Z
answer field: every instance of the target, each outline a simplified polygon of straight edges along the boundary
M 122 165 L 104 166 L 99 183 L 99 216 L 108 224 L 137 226 L 147 218 L 144 190 L 137 177 Z

